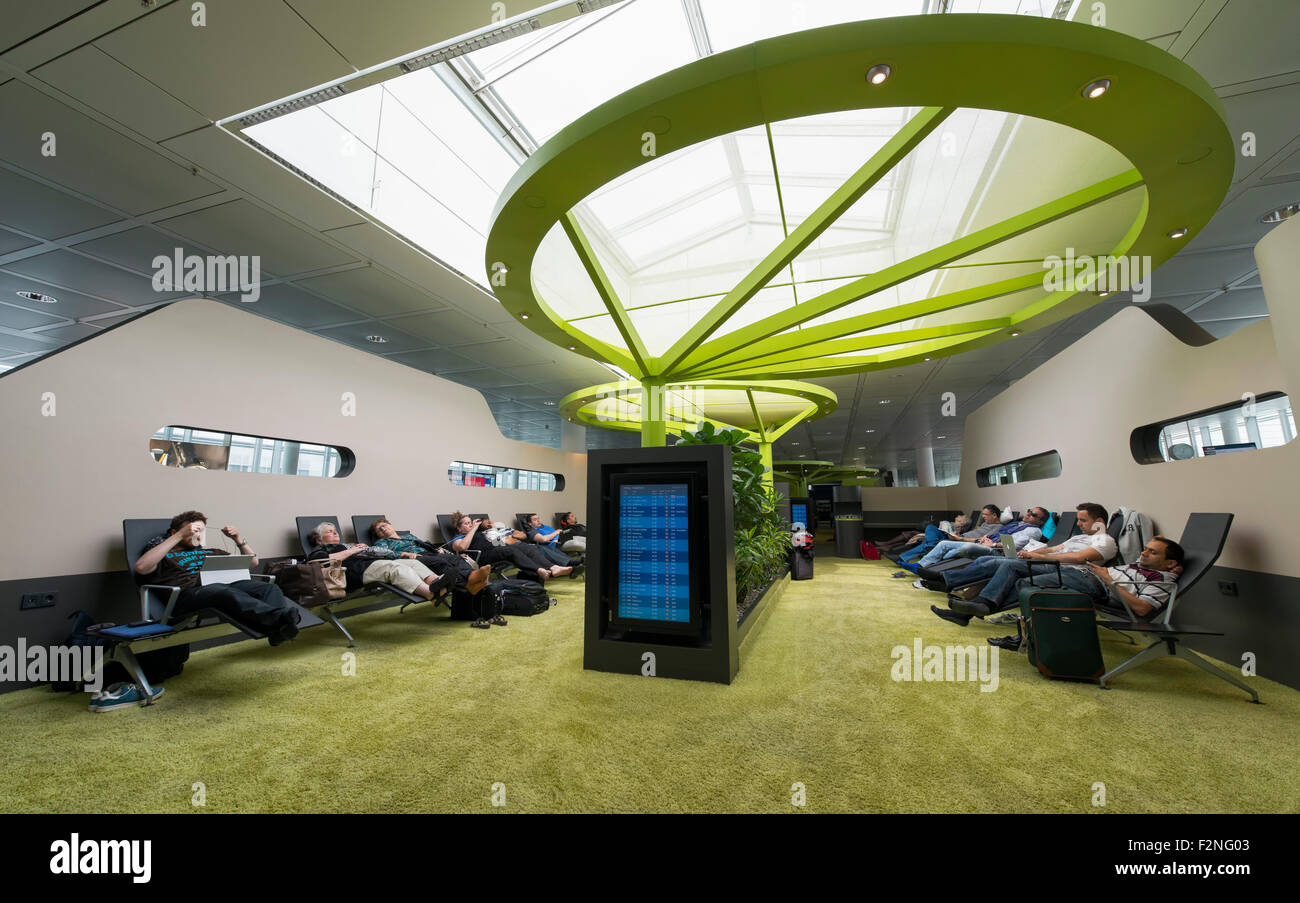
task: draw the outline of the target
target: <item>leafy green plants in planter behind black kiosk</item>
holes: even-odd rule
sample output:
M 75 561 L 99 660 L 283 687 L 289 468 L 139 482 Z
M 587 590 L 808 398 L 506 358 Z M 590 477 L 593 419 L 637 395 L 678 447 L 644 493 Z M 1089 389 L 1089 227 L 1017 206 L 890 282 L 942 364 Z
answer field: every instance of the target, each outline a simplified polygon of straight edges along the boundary
M 784 570 L 789 551 L 776 492 L 763 482 L 763 459 L 745 444 L 748 438 L 741 430 L 718 430 L 705 421 L 697 433 L 677 439 L 679 446 L 731 446 L 738 605 Z

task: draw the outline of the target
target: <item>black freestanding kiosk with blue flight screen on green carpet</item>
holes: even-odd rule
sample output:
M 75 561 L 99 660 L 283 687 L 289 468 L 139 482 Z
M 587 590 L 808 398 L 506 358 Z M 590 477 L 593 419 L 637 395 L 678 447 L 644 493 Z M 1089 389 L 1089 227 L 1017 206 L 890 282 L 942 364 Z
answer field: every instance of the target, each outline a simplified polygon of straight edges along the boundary
M 588 455 L 582 667 L 731 683 L 740 670 L 731 448 Z

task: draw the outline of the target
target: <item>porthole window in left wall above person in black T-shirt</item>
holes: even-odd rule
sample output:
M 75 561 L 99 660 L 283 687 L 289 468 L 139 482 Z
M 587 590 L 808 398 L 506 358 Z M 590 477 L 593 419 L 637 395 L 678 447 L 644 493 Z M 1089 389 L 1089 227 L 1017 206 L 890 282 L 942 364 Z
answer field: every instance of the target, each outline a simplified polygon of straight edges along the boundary
M 350 448 L 296 439 L 270 439 L 194 426 L 164 426 L 150 439 L 150 455 L 182 470 L 282 473 L 295 477 L 346 477 L 356 465 Z

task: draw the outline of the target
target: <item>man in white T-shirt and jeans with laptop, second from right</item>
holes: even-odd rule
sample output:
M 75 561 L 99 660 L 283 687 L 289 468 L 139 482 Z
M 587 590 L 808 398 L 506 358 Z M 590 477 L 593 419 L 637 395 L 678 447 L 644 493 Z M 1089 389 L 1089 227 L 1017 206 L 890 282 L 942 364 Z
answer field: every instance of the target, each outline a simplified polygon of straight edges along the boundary
M 1030 576 L 1030 566 L 1037 561 L 1061 564 L 1060 578 L 1056 568 L 1039 565 L 1034 568 L 1035 583 L 1043 587 L 1062 587 L 1092 594 L 1098 585 L 1092 577 L 1089 564 L 1109 561 L 1119 551 L 1115 541 L 1106 533 L 1106 509 L 1095 502 L 1080 502 L 1078 512 L 1079 535 L 1070 537 L 1056 546 L 1034 551 L 1020 550 L 1014 559 L 984 557 L 954 570 L 922 569 L 922 586 L 926 589 L 950 591 L 987 581 L 979 595 L 970 600 L 950 596 L 948 609 L 931 605 L 931 611 L 945 621 L 966 625 L 972 616 L 983 617 L 991 612 L 1013 608 L 1019 599 L 1018 583 Z M 1105 596 L 1105 587 L 1101 596 Z

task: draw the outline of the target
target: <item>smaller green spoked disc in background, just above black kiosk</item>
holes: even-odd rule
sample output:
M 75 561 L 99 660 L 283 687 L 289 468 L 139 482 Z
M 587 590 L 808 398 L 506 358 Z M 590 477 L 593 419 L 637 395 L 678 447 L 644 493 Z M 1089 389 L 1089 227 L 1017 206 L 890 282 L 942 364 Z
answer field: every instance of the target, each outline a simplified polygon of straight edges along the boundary
M 644 407 L 645 387 L 620 379 L 566 395 L 560 400 L 560 416 L 584 426 L 638 431 Z M 662 414 L 664 430 L 676 435 L 692 433 L 707 420 L 770 444 L 796 424 L 826 417 L 837 407 L 835 392 L 806 382 L 698 379 L 666 385 Z

